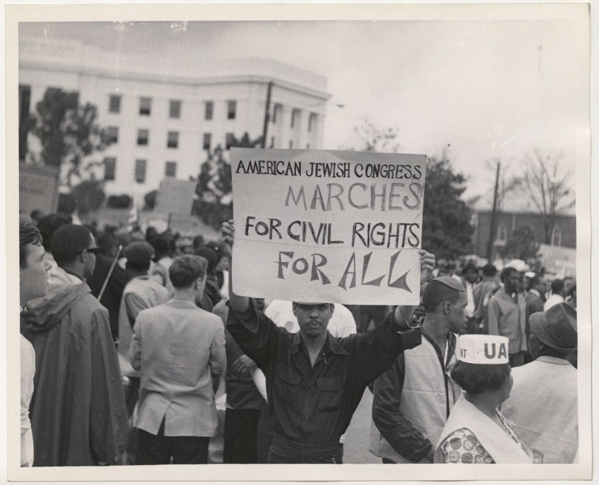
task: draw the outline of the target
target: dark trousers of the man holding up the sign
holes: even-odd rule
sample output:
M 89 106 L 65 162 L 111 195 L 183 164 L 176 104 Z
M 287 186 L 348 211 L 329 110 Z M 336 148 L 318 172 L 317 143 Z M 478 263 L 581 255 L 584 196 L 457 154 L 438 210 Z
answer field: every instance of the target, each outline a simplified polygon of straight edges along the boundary
M 268 463 L 319 463 L 342 464 L 342 444 L 336 443 L 296 443 L 278 434 L 273 438 L 268 452 Z

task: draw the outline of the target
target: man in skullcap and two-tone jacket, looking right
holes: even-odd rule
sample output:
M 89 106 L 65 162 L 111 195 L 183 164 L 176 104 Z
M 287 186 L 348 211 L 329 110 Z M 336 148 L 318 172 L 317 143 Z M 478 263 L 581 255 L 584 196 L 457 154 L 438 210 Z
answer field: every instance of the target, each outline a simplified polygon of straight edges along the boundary
M 455 364 L 456 334 L 467 331 L 466 289 L 440 276 L 422 302 L 422 344 L 400 354 L 374 385 L 370 451 L 383 463 L 431 463 L 460 395 L 447 369 Z

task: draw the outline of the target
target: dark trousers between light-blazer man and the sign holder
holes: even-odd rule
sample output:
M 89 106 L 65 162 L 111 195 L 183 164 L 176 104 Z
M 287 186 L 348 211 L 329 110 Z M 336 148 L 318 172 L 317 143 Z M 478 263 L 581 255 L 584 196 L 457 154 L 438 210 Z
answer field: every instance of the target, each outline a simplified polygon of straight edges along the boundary
M 258 462 L 259 419 L 260 410 L 226 410 L 223 463 Z

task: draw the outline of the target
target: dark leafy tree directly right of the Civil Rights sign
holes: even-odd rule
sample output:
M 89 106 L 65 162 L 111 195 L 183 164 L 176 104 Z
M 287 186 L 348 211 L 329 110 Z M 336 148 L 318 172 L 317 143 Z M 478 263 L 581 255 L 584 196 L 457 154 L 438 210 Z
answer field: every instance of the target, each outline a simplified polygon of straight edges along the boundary
M 455 259 L 471 252 L 474 228 L 470 223 L 471 209 L 462 200 L 465 183 L 462 173 L 452 170 L 445 152 L 438 159 L 428 159 L 422 240 L 423 247 L 438 259 Z

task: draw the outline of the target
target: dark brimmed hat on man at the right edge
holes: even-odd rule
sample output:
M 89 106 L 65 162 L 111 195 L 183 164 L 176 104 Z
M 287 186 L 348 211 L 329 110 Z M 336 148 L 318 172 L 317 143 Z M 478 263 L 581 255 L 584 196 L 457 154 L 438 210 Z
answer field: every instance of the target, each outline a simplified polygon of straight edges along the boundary
M 545 345 L 560 352 L 574 352 L 578 348 L 576 309 L 567 303 L 553 305 L 546 312 L 533 313 L 531 332 Z

